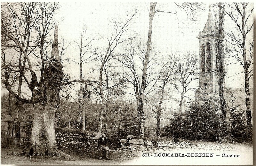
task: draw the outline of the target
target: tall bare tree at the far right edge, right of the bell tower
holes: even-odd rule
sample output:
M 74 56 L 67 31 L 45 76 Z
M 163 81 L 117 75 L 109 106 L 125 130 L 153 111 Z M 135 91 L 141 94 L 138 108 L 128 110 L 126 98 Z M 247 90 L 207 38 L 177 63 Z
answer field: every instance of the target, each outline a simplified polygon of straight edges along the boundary
M 225 13 L 237 28 L 236 31 L 226 33 L 227 41 L 231 44 L 228 51 L 230 56 L 236 59 L 237 64 L 244 68 L 246 122 L 248 129 L 252 130 L 249 80 L 253 77 L 253 37 L 248 37 L 248 33 L 253 29 L 253 4 L 227 3 L 226 5 Z

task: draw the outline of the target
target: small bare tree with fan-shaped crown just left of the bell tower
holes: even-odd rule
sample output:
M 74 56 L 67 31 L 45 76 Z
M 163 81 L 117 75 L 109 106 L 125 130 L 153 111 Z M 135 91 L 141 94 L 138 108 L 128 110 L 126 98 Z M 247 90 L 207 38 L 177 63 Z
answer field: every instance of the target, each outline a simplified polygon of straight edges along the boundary
M 174 56 L 174 68 L 177 70 L 177 83 L 174 84 L 175 89 L 180 93 L 180 109 L 179 112 L 182 111 L 182 102 L 185 97 L 185 94 L 194 90 L 195 88 L 189 87 L 190 83 L 194 80 L 198 79 L 196 77 L 196 70 L 198 59 L 195 56 L 195 52 L 187 51 L 186 53 L 182 53 L 181 56 Z

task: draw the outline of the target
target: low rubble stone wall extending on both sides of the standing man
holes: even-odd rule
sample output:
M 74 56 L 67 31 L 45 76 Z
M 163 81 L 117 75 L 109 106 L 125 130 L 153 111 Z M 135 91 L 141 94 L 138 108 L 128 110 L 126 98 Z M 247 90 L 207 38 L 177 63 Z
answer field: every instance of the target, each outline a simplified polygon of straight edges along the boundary
M 21 124 L 21 133 L 26 131 L 27 126 Z M 87 131 L 57 128 L 56 143 L 60 150 L 67 154 L 79 154 L 81 156 L 87 156 L 92 158 L 99 157 L 98 139 L 101 134 L 94 132 L 88 133 Z M 24 132 L 25 133 L 25 132 Z M 30 133 L 27 131 L 26 133 Z M 21 134 L 22 135 L 22 134 Z M 28 136 L 26 135 L 26 138 Z M 29 139 L 23 140 L 28 142 Z M 143 153 L 163 153 L 170 152 L 173 149 L 207 149 L 207 150 L 233 150 L 226 145 L 211 142 L 175 142 L 175 141 L 149 141 L 143 139 L 133 139 L 128 135 L 127 139 L 120 140 L 120 147 L 117 150 L 109 152 L 110 159 L 125 160 L 129 157 L 141 157 Z

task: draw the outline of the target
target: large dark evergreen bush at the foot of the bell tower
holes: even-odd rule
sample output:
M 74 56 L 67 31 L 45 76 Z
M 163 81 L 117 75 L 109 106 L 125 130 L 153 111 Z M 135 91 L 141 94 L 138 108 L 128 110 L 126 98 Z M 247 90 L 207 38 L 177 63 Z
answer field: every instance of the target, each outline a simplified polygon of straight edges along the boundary
M 164 127 L 163 134 L 176 140 L 214 141 L 224 135 L 222 124 L 221 115 L 209 102 L 191 102 L 187 112 L 176 114 L 170 119 L 170 125 Z

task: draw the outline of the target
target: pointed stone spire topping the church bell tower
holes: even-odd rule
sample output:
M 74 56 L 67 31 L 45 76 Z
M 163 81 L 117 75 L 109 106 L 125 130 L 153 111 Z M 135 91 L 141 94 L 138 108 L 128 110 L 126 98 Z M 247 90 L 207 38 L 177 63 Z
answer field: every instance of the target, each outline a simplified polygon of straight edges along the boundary
M 216 31 L 217 31 L 217 27 L 212 18 L 211 5 L 209 5 L 208 19 L 204 26 L 204 30 L 202 32 L 199 32 L 198 36 L 203 36 L 203 35 L 208 35 L 208 34 L 213 34 L 213 33 L 216 34 Z

